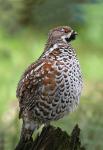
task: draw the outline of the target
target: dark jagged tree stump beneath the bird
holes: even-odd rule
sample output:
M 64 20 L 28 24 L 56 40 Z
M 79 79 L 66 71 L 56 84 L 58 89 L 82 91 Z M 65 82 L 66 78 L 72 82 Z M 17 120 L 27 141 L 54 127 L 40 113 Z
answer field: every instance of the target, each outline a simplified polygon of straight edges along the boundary
M 85 148 L 81 146 L 80 128 L 76 125 L 70 136 L 60 128 L 44 127 L 34 141 L 22 140 L 15 150 L 85 150 Z

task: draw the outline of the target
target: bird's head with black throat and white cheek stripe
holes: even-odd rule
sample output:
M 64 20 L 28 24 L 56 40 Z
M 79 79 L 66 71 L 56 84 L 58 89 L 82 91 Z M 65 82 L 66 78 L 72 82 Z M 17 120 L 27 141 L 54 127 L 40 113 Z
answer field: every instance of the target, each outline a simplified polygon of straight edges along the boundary
M 77 32 L 75 32 L 69 26 L 60 26 L 50 30 L 49 38 L 54 40 L 62 40 L 68 43 L 76 38 Z

